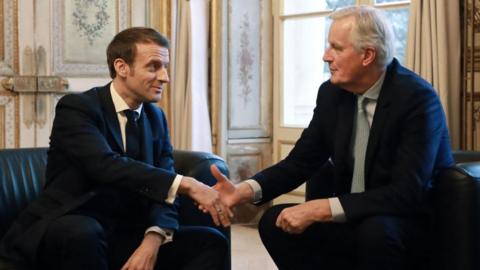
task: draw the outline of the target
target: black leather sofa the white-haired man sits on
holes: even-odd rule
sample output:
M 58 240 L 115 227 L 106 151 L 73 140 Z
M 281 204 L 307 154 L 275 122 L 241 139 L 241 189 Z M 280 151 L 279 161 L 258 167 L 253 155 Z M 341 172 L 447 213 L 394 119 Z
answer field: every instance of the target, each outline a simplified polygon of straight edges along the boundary
M 433 228 L 415 270 L 480 269 L 480 152 L 456 151 L 454 158 L 456 165 L 434 181 Z M 316 180 L 307 181 L 306 200 L 332 195 L 325 181 L 318 181 L 332 179 L 332 166 L 327 163 L 312 178 Z

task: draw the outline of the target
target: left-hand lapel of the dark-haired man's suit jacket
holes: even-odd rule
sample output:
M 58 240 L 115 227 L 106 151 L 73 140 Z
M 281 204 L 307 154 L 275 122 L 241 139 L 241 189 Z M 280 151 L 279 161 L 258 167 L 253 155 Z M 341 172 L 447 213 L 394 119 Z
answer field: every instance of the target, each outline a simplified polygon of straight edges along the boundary
M 119 149 L 123 148 L 122 143 L 122 134 L 120 133 L 120 124 L 118 123 L 117 112 L 115 112 L 115 106 L 113 105 L 112 96 L 110 94 L 110 84 L 107 84 L 104 88 L 99 91 L 99 97 L 101 98 L 103 104 L 103 113 L 105 115 L 105 120 L 107 126 L 110 129 L 110 133 L 117 144 Z

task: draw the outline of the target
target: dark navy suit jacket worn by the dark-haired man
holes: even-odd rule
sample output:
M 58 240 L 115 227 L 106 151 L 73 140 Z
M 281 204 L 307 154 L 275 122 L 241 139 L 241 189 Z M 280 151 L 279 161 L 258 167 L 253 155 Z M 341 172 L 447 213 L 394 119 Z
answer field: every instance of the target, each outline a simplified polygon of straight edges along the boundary
M 1 254 L 35 262 L 49 222 L 96 198 L 99 190 L 121 191 L 153 202 L 146 227 L 177 229 L 175 205 L 166 204 L 176 176 L 163 112 L 143 105 L 142 160 L 125 156 L 110 84 L 63 97 L 56 107 L 50 137 L 46 189 L 6 233 Z

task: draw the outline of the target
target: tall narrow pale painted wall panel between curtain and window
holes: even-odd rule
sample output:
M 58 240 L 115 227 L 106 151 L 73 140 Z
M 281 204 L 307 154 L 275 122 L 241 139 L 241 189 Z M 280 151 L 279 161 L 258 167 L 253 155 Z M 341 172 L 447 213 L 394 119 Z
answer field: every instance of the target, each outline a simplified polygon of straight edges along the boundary
M 228 1 L 228 137 L 269 137 L 270 51 L 268 1 Z

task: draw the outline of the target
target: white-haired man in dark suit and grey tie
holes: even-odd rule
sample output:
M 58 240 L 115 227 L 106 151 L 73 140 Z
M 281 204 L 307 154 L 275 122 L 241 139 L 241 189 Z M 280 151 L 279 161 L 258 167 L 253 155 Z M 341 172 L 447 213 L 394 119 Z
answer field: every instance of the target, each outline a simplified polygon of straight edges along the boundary
M 331 162 L 333 177 L 318 179 L 327 198 L 276 205 L 260 221 L 279 269 L 411 269 L 432 179 L 453 163 L 442 105 L 393 58 L 391 26 L 378 10 L 348 7 L 331 19 L 323 57 L 331 78 L 293 150 L 236 186 L 213 167 L 216 188 L 229 206 L 264 203 Z

